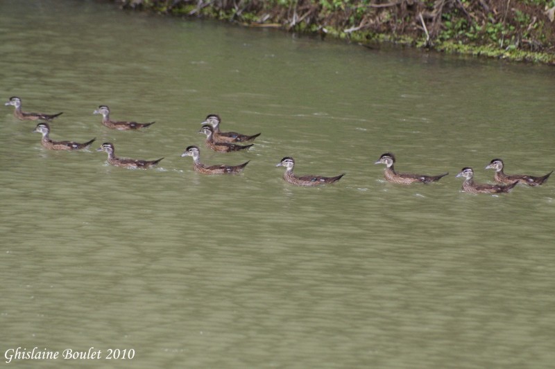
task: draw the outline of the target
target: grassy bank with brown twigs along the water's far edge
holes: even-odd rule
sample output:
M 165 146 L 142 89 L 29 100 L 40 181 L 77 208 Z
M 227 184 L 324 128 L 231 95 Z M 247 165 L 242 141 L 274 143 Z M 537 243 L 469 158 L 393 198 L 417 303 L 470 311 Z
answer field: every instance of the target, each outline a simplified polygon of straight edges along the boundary
M 555 0 L 114 0 L 354 42 L 555 64 Z

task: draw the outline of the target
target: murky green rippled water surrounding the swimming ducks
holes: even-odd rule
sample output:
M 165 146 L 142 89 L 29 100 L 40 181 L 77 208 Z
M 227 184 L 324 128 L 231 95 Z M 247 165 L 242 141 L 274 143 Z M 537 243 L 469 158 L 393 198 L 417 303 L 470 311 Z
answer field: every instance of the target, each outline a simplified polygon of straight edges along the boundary
M 555 181 L 469 195 L 506 172 L 555 169 L 552 67 L 369 50 L 104 1 L 0 2 L 0 352 L 101 350 L 14 367 L 551 368 Z M 117 132 L 92 111 L 150 122 Z M 198 134 L 262 135 L 210 152 Z M 106 163 L 157 159 L 152 170 Z M 207 164 L 250 163 L 237 176 Z M 386 183 L 373 163 L 450 175 Z M 297 188 L 298 174 L 346 175 Z M 133 359 L 106 359 L 109 350 Z M 3 356 L 3 357 L 4 357 Z M 4 360 L 6 361 L 6 359 Z

